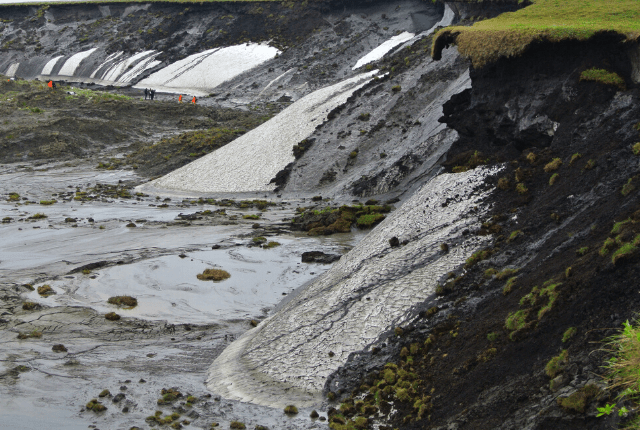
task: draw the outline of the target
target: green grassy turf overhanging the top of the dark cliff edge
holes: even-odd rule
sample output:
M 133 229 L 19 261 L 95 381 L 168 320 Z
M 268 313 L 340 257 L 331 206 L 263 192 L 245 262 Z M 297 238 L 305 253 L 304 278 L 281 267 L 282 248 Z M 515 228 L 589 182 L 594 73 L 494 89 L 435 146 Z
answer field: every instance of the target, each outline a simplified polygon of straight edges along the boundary
M 501 57 L 520 56 L 533 42 L 587 40 L 596 34 L 615 32 L 627 41 L 640 38 L 640 8 L 637 0 L 532 0 L 516 12 L 503 13 L 471 27 L 440 30 L 433 39 L 432 55 L 458 46 L 474 67 Z

